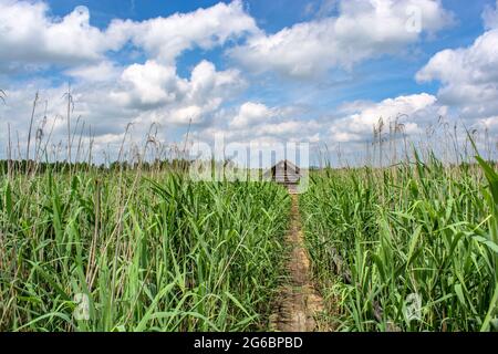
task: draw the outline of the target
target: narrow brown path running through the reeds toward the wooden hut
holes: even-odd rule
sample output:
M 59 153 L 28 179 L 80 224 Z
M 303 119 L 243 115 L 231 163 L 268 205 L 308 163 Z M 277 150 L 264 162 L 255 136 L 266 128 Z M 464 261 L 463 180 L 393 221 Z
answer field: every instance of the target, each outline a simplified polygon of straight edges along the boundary
M 320 331 L 317 316 L 323 311 L 323 300 L 315 291 L 310 274 L 310 260 L 304 249 L 298 196 L 291 194 L 291 225 L 287 242 L 291 244 L 287 271 L 289 281 L 280 290 L 279 301 L 270 320 L 270 329 L 281 332 Z

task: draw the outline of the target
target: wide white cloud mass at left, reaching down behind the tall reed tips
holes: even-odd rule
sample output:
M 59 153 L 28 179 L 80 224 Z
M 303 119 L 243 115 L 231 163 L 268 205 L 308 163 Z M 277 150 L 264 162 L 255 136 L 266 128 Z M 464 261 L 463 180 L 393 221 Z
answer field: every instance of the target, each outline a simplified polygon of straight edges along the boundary
M 134 142 L 144 138 L 152 125 L 158 127 L 157 138 L 165 142 L 175 127 L 207 124 L 221 103 L 245 84 L 238 71 L 217 71 L 207 61 L 198 63 L 188 79 L 179 77 L 175 66 L 155 61 L 132 64 L 121 69 L 114 80 L 83 81 L 73 85 L 72 129 L 86 138 L 94 136 L 95 152 L 115 152 L 128 124 L 133 132 L 129 138 Z M 0 104 L 0 145 L 6 146 L 8 138 L 6 122 L 10 122 L 12 137 L 19 136 L 21 145 L 27 142 L 37 91 L 35 128 L 43 126 L 45 138 L 52 132 L 51 142 L 65 146 L 68 86 L 52 87 L 43 82 L 8 91 L 6 104 Z

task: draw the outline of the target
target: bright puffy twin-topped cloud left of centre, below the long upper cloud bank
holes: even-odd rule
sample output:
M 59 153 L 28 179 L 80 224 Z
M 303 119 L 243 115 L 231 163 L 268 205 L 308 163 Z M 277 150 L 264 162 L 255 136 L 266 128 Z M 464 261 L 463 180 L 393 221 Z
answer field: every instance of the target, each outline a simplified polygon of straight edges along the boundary
M 219 72 L 208 61 L 197 64 L 187 80 L 177 75 L 175 66 L 149 60 L 126 67 L 110 96 L 129 108 L 162 110 L 164 122 L 187 124 L 200 123 L 243 86 L 237 70 Z

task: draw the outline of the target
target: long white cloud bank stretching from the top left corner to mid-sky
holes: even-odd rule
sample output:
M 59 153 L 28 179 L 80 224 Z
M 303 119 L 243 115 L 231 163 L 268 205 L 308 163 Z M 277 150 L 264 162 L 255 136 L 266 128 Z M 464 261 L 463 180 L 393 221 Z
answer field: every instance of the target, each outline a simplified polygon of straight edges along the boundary
M 151 58 L 173 64 L 195 45 L 211 49 L 258 31 L 238 0 L 142 22 L 113 20 L 105 30 L 90 24 L 85 7 L 63 18 L 50 15 L 49 10 L 41 1 L 0 0 L 0 70 L 98 62 L 128 41 Z

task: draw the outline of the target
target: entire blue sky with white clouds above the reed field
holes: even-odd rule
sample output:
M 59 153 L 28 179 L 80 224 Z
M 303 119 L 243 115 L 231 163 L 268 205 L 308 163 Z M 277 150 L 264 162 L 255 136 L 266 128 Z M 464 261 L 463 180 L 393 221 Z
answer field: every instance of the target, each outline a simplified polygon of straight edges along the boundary
M 342 144 L 352 153 L 380 117 L 403 115 L 411 136 L 439 115 L 498 132 L 496 6 L 0 0 L 0 124 L 22 139 L 38 91 L 48 117 L 38 104 L 35 123 L 62 139 L 71 83 L 82 134 L 102 150 L 120 145 L 128 123 L 131 142 L 152 124 L 159 140 L 181 142 L 190 123 L 198 139 Z

